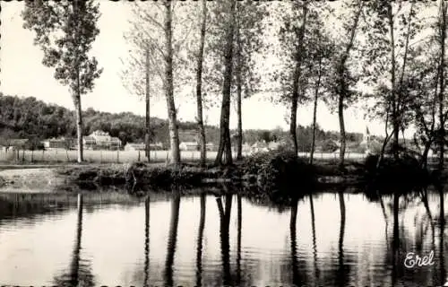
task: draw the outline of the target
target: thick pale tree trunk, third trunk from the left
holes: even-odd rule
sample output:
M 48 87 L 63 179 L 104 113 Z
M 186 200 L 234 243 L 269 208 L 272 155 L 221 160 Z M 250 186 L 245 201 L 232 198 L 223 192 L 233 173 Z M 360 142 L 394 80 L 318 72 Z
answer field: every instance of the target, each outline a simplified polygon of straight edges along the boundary
M 179 133 L 177 129 L 177 110 L 174 102 L 173 83 L 173 45 L 172 45 L 172 11 L 171 2 L 165 2 L 165 95 L 168 107 L 169 143 L 171 147 L 171 161 L 180 165 Z

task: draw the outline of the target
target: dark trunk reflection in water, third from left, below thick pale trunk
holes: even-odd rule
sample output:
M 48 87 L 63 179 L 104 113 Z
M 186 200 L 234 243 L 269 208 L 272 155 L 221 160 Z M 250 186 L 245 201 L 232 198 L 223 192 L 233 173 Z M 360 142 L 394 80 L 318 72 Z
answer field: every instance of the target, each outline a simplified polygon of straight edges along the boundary
M 177 225 L 179 223 L 180 195 L 171 201 L 171 222 L 169 223 L 167 260 L 165 262 L 165 286 L 173 286 L 173 264 L 176 253 Z

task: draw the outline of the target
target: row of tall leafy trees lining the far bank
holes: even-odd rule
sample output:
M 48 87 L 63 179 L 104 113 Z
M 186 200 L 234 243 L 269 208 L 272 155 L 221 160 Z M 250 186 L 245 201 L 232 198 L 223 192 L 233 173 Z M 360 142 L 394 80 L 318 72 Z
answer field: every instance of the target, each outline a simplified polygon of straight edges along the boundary
M 93 89 L 101 69 L 89 51 L 99 34 L 99 3 L 26 2 L 24 26 L 44 51 L 43 64 L 69 86 L 82 135 L 81 95 Z M 409 127 L 414 141 L 428 151 L 438 147 L 444 168 L 445 40 L 447 6 L 443 0 L 409 1 L 220 1 L 125 3 L 130 9 L 131 47 L 123 60 L 123 82 L 146 103 L 145 140 L 151 141 L 150 101 L 167 102 L 171 161 L 180 164 L 177 107 L 181 97 L 196 101 L 196 125 L 205 163 L 203 109 L 220 106 L 219 149 L 215 163 L 242 155 L 241 102 L 256 93 L 289 109 L 289 140 L 295 152 L 297 109 L 324 102 L 339 117 L 340 168 L 347 132 L 344 113 L 365 104 L 366 118 L 384 123 L 386 146 L 401 157 L 400 134 Z M 44 19 L 44 21 L 41 21 Z M 163 91 L 160 93 L 159 91 Z M 237 137 L 229 128 L 231 103 L 237 107 Z M 80 142 L 81 143 L 81 142 Z M 149 146 L 149 144 L 148 144 Z M 79 160 L 82 161 L 82 144 Z

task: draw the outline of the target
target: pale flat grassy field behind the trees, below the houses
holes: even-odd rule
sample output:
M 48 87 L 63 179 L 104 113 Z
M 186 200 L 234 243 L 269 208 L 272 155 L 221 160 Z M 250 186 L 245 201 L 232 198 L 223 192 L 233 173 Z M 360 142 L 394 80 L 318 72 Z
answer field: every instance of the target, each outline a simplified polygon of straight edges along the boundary
M 212 161 L 216 158 L 217 152 L 207 152 L 207 159 Z M 235 152 L 233 153 L 236 156 Z M 247 155 L 247 154 L 244 154 Z M 299 156 L 308 157 L 308 152 L 299 152 Z M 363 160 L 364 153 L 347 153 L 346 158 L 350 160 Z M 76 151 L 48 150 L 48 151 L 8 151 L 0 152 L 0 162 L 27 163 L 27 162 L 75 162 Z M 151 151 L 151 161 L 165 162 L 169 158 L 169 151 Z M 182 151 L 182 161 L 199 161 L 200 152 Z M 316 152 L 315 159 L 335 159 L 339 158 L 338 153 Z M 138 151 L 84 151 L 84 160 L 96 163 L 125 163 L 134 161 L 146 161 L 144 152 Z

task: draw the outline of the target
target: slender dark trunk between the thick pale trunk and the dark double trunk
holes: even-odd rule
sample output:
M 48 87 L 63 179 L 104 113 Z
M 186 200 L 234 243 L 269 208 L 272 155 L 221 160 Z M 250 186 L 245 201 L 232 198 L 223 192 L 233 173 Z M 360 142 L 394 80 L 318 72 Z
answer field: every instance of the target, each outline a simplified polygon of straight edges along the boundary
M 196 106 L 197 106 L 197 124 L 199 132 L 199 144 L 201 146 L 201 166 L 205 166 L 207 159 L 207 149 L 205 141 L 205 128 L 203 126 L 202 116 L 202 64 L 203 64 L 203 48 L 205 45 L 205 25 L 207 21 L 207 1 L 202 0 L 202 23 L 201 23 L 201 40 L 199 44 L 199 53 L 197 56 L 196 71 Z

